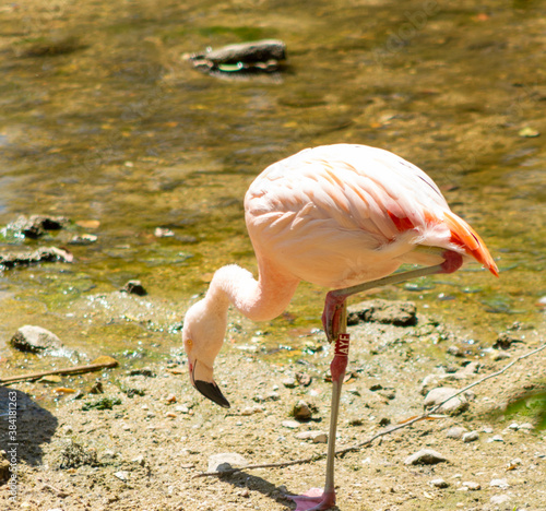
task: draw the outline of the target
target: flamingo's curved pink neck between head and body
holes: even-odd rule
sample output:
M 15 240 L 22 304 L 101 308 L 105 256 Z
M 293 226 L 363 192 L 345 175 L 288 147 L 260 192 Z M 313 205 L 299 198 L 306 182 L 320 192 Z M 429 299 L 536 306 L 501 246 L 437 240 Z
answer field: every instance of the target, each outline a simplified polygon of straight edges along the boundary
M 280 316 L 290 302 L 299 280 L 276 271 L 268 262 L 259 266 L 258 281 L 236 264 L 217 270 L 206 292 L 209 307 L 227 310 L 232 304 L 252 321 Z

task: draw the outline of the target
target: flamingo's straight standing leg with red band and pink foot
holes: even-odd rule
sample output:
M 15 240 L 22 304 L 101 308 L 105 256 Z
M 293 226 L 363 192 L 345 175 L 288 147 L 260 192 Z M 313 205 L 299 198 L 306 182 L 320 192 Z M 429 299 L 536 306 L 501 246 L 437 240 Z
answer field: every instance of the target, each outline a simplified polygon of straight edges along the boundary
M 339 336 L 335 341 L 334 358 L 330 364 L 332 373 L 332 405 L 330 408 L 330 431 L 328 435 L 327 480 L 324 490 L 312 488 L 304 495 L 289 496 L 297 503 L 296 511 L 321 511 L 335 506 L 334 462 L 335 436 L 337 431 L 337 417 L 340 415 L 340 399 L 347 368 L 349 335 L 347 330 L 347 305 L 340 302 L 340 317 L 337 328 Z

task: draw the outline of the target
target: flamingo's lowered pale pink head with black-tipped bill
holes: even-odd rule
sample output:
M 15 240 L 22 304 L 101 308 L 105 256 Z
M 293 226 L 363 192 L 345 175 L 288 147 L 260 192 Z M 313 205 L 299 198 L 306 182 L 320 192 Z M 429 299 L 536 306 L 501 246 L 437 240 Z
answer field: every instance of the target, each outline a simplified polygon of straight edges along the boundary
M 182 341 L 188 355 L 191 384 L 214 403 L 229 408 L 214 381 L 214 360 L 224 344 L 227 318 L 225 313 L 210 310 L 206 300 L 191 306 L 183 319 Z

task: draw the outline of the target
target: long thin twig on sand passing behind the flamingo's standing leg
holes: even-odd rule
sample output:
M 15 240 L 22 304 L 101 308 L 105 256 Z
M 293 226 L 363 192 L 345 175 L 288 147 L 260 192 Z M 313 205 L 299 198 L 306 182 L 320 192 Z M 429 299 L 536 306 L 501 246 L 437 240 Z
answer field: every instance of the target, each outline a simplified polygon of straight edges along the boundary
M 360 450 L 364 447 L 370 445 L 378 438 L 381 438 L 381 437 L 384 437 L 387 435 L 390 435 L 390 433 L 392 433 L 394 431 L 397 431 L 399 429 L 407 428 L 412 424 L 418 423 L 419 420 L 434 420 L 434 419 L 438 419 L 438 418 L 444 417 L 442 415 L 435 415 L 435 412 L 437 412 L 438 409 L 440 409 L 440 407 L 442 405 L 444 405 L 448 401 L 450 401 L 453 397 L 456 397 L 458 395 L 466 392 L 468 389 L 472 389 L 473 387 L 479 385 L 480 383 L 483 383 L 486 380 L 489 380 L 490 378 L 496 378 L 496 377 L 502 375 L 508 369 L 510 369 L 514 364 L 517 364 L 520 360 L 523 360 L 524 358 L 527 358 L 527 357 L 530 357 L 530 356 L 532 356 L 532 355 L 534 355 L 534 354 L 536 354 L 538 352 L 542 352 L 545 348 L 546 348 L 546 343 L 543 344 L 543 345 L 541 345 L 536 349 L 533 349 L 533 350 L 526 353 L 525 355 L 522 355 L 522 356 L 518 357 L 515 360 L 512 360 L 510 364 L 508 364 L 507 366 L 505 366 L 499 371 L 491 372 L 490 375 L 487 375 L 486 377 L 480 378 L 479 380 L 475 381 L 474 383 L 471 383 L 470 385 L 466 385 L 465 388 L 461 389 L 460 391 L 458 391 L 456 393 L 454 393 L 453 395 L 451 395 L 447 400 L 444 400 L 441 403 L 437 404 L 434 408 L 430 408 L 428 412 L 424 413 L 423 415 L 418 415 L 418 416 L 415 416 L 415 417 L 411 417 L 410 419 L 405 419 L 404 421 L 402 421 L 402 423 L 400 423 L 400 424 L 397 424 L 395 426 L 392 426 L 392 427 L 390 427 L 388 429 L 383 429 L 382 431 L 379 431 L 378 433 L 376 433 L 372 437 L 368 438 L 364 442 L 357 443 L 356 445 L 351 445 L 351 447 L 345 448 L 345 449 L 340 449 L 339 451 L 335 451 L 335 454 L 336 455 L 343 455 L 343 454 L 346 454 L 347 452 L 358 451 L 358 450 Z M 316 454 L 316 455 L 312 455 L 312 456 L 309 456 L 309 457 L 302 457 L 300 460 L 293 460 L 293 461 L 289 461 L 289 462 L 263 463 L 263 464 L 259 464 L 259 465 L 246 465 L 246 466 L 242 466 L 242 467 L 239 467 L 239 468 L 228 468 L 228 470 L 225 470 L 225 471 L 202 472 L 200 474 L 195 474 L 192 478 L 194 479 L 197 477 L 223 477 L 223 476 L 236 474 L 238 472 L 251 471 L 251 470 L 256 470 L 256 468 L 284 468 L 286 466 L 292 466 L 292 465 L 302 465 L 305 463 L 312 463 L 312 462 L 322 460 L 324 457 L 327 457 L 325 453 L 323 453 L 323 454 Z

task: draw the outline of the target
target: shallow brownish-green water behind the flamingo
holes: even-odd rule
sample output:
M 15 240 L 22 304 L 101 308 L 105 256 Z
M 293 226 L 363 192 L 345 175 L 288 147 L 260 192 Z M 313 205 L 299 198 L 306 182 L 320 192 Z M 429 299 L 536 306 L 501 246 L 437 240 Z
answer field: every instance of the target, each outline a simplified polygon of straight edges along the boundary
M 425 169 L 501 270 L 497 280 L 470 266 L 379 296 L 414 299 L 486 342 L 514 321 L 544 326 L 544 20 L 539 1 L 1 8 L 0 225 L 48 213 L 99 226 L 72 226 L 98 236 L 70 247 L 73 264 L 0 274 L 0 354 L 25 323 L 86 353 L 168 354 L 175 323 L 216 268 L 256 269 L 242 218 L 253 177 L 337 142 L 388 148 Z M 182 59 L 269 37 L 288 48 L 276 79 L 206 76 Z M 175 237 L 156 238 L 158 226 Z M 59 233 L 39 245 L 64 241 Z M 17 245 L 36 242 L 3 248 Z M 129 278 L 150 293 L 140 311 L 128 316 L 118 296 L 91 305 Z M 302 284 L 281 319 L 234 316 L 229 336 L 248 343 L 261 331 L 269 350 L 302 346 L 322 299 Z

